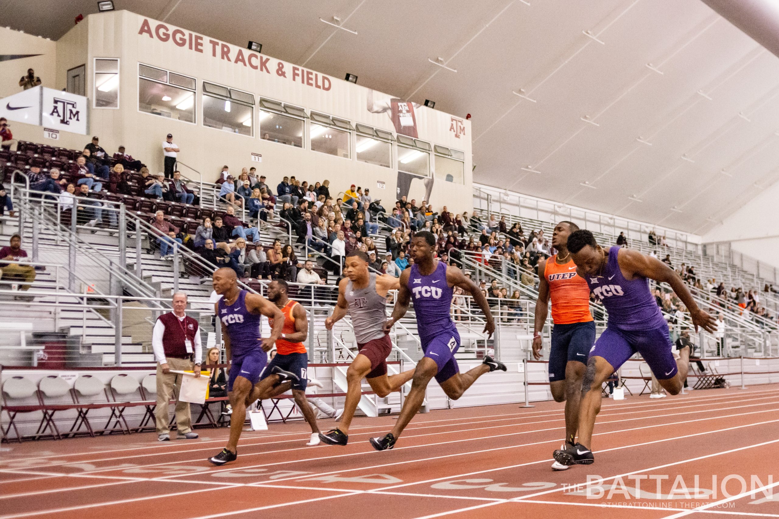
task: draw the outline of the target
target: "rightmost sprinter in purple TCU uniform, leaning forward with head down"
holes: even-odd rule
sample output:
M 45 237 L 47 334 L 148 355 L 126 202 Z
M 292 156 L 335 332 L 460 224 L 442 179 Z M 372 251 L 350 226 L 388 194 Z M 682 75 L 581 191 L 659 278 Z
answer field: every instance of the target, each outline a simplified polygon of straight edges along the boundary
M 668 323 L 650 293 L 649 279 L 667 282 L 689 310 L 698 327 L 714 332 L 714 319 L 700 310 L 686 285 L 668 265 L 638 251 L 621 247 L 601 248 L 588 230 L 577 230 L 568 237 L 568 250 L 576 264 L 576 273 L 608 311 L 608 326 L 590 350 L 582 383 L 579 408 L 579 441 L 573 447 L 555 451 L 562 465 L 590 465 L 595 417 L 601 410 L 601 387 L 619 366 L 638 352 L 654 377 L 671 395 L 682 391 L 689 369 L 689 347 L 679 350 L 679 359 L 671 352 Z

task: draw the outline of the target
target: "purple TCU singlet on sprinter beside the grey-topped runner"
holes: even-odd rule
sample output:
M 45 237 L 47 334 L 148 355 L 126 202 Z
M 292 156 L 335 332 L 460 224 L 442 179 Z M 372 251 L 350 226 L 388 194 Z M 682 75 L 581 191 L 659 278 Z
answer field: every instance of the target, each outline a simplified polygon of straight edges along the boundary
M 452 307 L 452 287 L 446 282 L 446 264 L 438 261 L 431 275 L 421 275 L 418 265 L 411 265 L 408 291 L 417 314 L 417 331 L 422 342 L 436 335 L 456 331 L 449 311 Z

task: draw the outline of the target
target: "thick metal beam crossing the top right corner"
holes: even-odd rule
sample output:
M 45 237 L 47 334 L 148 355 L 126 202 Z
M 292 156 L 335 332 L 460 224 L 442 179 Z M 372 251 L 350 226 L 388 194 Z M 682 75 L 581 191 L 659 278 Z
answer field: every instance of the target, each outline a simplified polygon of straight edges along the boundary
M 703 0 L 703 3 L 779 56 L 779 3 L 773 0 Z

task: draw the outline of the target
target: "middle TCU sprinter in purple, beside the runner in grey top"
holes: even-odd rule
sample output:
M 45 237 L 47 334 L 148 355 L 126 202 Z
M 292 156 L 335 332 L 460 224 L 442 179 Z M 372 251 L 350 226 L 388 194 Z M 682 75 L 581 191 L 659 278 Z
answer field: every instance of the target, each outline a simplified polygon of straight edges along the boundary
M 441 384 L 446 396 L 456 400 L 471 387 L 478 377 L 488 371 L 503 370 L 506 366 L 498 360 L 485 356 L 481 365 L 467 373 L 460 373 L 454 354 L 460 348 L 460 334 L 449 315 L 452 307 L 452 288 L 459 286 L 465 293 L 471 293 L 474 301 L 485 314 L 485 333 L 492 336 L 495 331 L 495 321 L 489 310 L 489 304 L 484 294 L 467 279 L 459 268 L 449 267 L 443 261 L 433 257 L 435 236 L 428 231 L 421 231 L 411 238 L 411 257 L 414 265 L 406 268 L 400 274 L 400 290 L 392 317 L 386 321 L 384 331 L 389 333 L 407 310 L 408 304 L 414 300 L 414 314 L 417 316 L 417 331 L 421 339 L 425 356 L 417 363 L 414 370 L 414 381 L 408 392 L 403 409 L 400 409 L 397 423 L 391 433 L 383 437 L 371 438 L 370 442 L 376 451 L 385 451 L 395 446 L 397 438 L 411 419 L 419 411 L 425 399 L 425 388 L 432 377 Z

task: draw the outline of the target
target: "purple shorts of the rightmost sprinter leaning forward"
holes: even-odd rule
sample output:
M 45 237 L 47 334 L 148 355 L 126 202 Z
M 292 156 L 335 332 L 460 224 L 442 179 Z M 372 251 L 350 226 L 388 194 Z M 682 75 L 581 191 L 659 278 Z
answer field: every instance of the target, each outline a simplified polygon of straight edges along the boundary
M 666 380 L 675 377 L 678 371 L 672 347 L 668 325 L 648 330 L 621 330 L 608 326 L 590 350 L 590 357 L 603 357 L 616 371 L 633 353 L 639 352 L 654 377 Z

